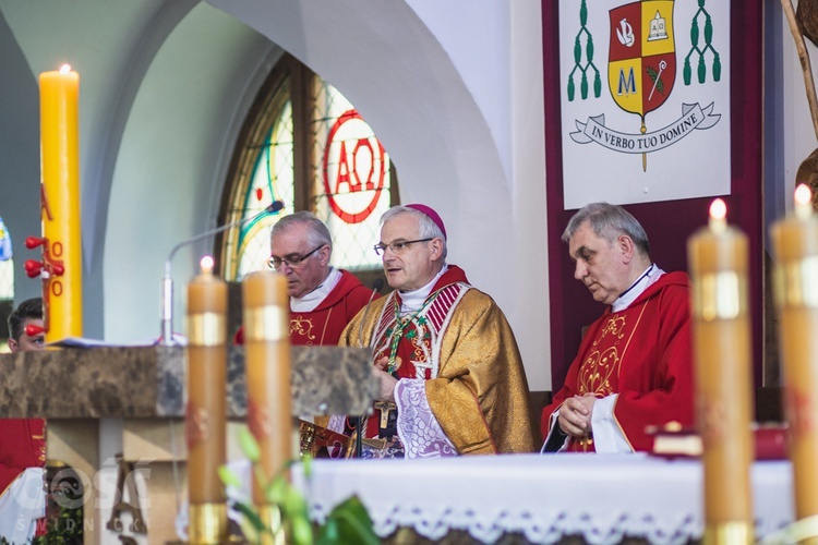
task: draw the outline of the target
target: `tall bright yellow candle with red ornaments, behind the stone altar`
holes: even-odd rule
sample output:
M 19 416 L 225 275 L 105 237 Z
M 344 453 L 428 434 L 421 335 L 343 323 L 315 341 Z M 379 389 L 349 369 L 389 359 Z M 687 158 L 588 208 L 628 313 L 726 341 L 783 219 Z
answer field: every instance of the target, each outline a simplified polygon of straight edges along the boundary
M 77 99 L 68 64 L 44 72 L 40 86 L 43 280 L 46 342 L 83 335 Z

